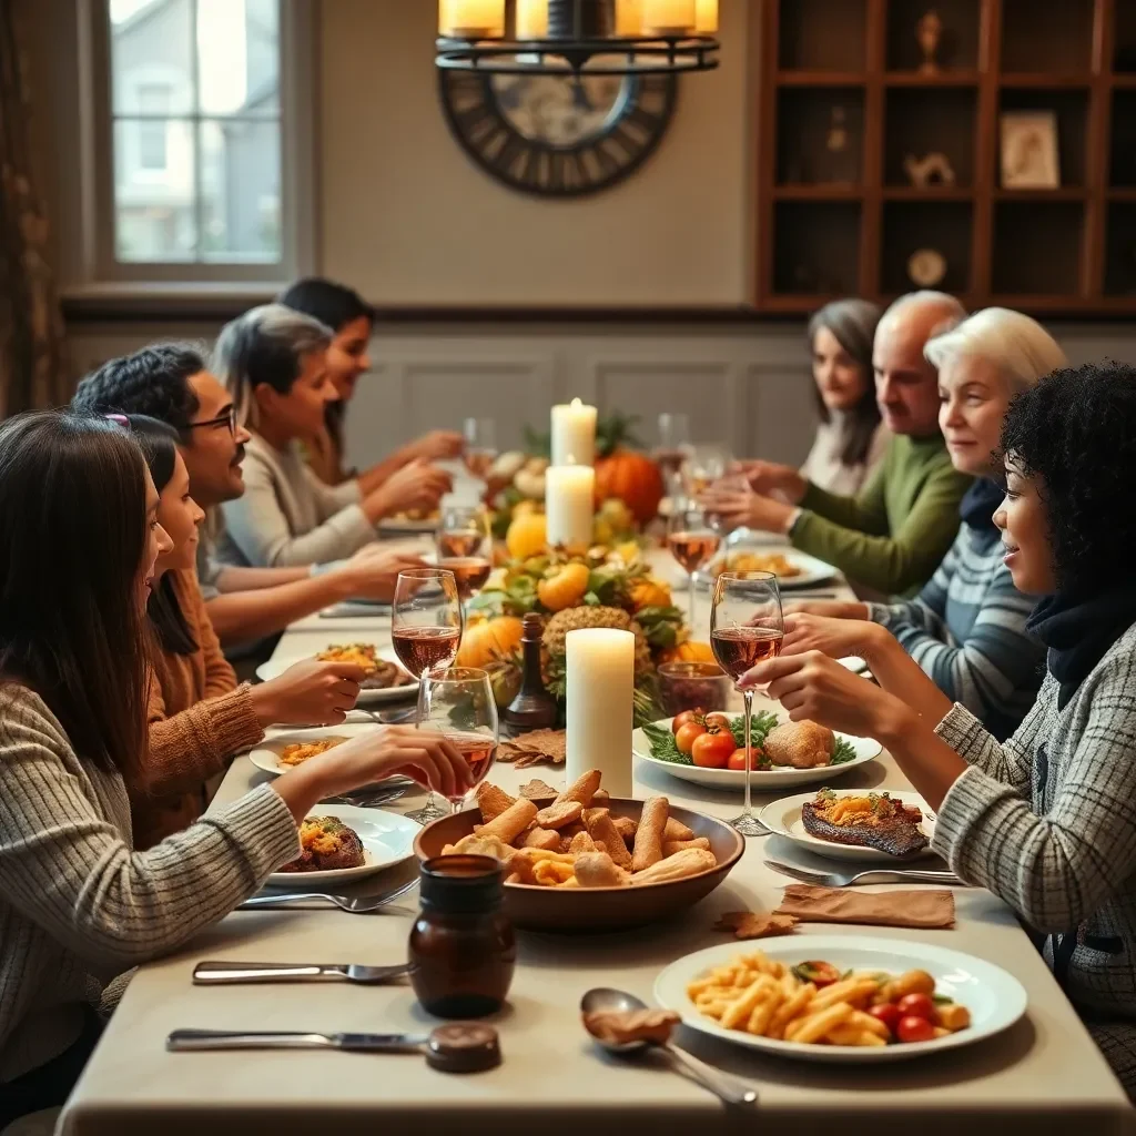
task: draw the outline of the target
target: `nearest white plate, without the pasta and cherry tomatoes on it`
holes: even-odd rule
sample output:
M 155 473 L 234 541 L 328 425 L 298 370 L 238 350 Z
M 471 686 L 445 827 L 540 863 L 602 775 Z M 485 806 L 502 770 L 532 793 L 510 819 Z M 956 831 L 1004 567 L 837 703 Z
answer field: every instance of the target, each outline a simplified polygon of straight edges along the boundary
M 701 1013 L 686 996 L 686 987 L 707 971 L 720 967 L 740 953 L 737 943 L 722 943 L 696 951 L 673 962 L 654 983 L 655 1001 L 682 1016 L 683 1025 L 745 1049 L 774 1053 L 800 1061 L 874 1064 L 880 1061 L 908 1061 L 957 1050 L 1009 1029 L 1026 1012 L 1026 992 L 1012 975 L 984 959 L 929 943 L 902 938 L 874 938 L 868 935 L 790 935 L 766 938 L 755 944 L 770 959 L 785 966 L 805 960 L 824 960 L 837 970 L 880 970 L 899 976 L 905 970 L 926 970 L 935 979 L 935 991 L 953 999 L 970 1011 L 970 1025 L 958 1033 L 929 1042 L 909 1044 L 802 1045 L 754 1037 L 740 1029 L 725 1029 L 713 1018 Z

